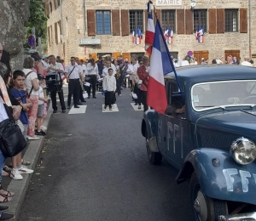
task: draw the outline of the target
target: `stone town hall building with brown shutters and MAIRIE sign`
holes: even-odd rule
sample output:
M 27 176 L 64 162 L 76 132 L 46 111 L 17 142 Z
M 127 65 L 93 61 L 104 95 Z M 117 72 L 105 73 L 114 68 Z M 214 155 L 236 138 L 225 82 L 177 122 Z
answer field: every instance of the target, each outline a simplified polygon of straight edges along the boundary
M 48 54 L 93 57 L 144 54 L 148 0 L 43 0 L 49 14 Z M 255 0 L 154 0 L 163 31 L 172 30 L 171 54 L 201 58 L 256 57 Z M 192 4 L 191 4 L 192 3 Z M 193 7 L 191 7 L 191 5 Z M 152 6 L 153 8 L 153 6 Z M 143 39 L 133 41 L 138 29 Z M 203 30 L 203 42 L 196 32 Z M 202 38 L 201 38 L 202 39 Z

